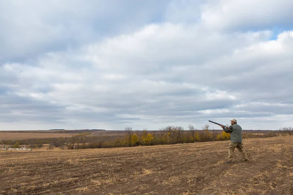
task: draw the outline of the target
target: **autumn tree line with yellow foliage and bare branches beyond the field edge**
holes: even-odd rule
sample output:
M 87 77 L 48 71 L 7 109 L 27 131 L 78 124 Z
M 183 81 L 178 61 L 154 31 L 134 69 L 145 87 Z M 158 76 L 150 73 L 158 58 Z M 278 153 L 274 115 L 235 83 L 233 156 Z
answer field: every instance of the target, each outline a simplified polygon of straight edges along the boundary
M 59 138 L 2 140 L 2 143 L 11 147 L 27 145 L 30 148 L 38 148 L 48 144 L 48 149 L 54 149 L 55 147 L 61 149 L 87 149 L 230 140 L 230 134 L 224 131 L 211 130 L 209 125 L 205 125 L 201 130 L 194 128 L 193 125 L 188 125 L 188 130 L 184 130 L 181 126 L 167 126 L 159 129 L 159 131 L 147 131 L 147 129 L 139 131 L 133 130 L 131 127 L 125 127 L 124 131 L 125 134 L 121 136 L 92 136 L 90 133 L 78 133 L 70 134 L 69 137 Z M 278 131 L 269 131 L 265 134 L 243 132 L 243 138 L 292 135 L 292 127 L 281 128 Z

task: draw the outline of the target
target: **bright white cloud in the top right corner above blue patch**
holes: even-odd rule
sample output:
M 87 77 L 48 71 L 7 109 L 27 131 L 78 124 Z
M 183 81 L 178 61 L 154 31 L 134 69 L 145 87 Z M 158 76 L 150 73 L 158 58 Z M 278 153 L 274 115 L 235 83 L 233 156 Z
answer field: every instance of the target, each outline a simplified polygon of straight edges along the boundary
M 210 28 L 234 31 L 292 29 L 290 0 L 219 0 L 203 6 L 201 19 Z

